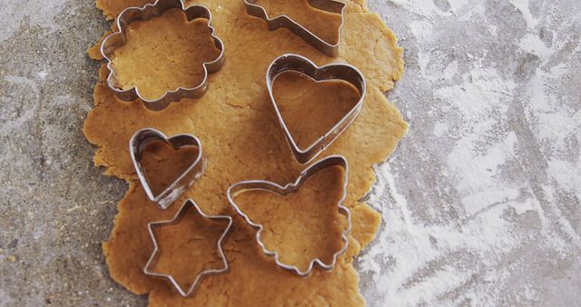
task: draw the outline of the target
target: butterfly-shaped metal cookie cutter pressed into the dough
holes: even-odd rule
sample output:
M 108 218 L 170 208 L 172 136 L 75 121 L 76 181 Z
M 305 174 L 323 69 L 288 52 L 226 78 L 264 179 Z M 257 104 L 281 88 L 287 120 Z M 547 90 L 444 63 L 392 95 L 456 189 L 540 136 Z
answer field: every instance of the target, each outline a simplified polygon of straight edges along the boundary
M 325 262 L 321 261 L 319 258 L 312 259 L 309 263 L 308 269 L 306 271 L 300 271 L 300 268 L 295 266 L 295 265 L 290 265 L 290 264 L 286 264 L 286 263 L 281 262 L 279 260 L 279 253 L 270 251 L 264 245 L 264 243 L 262 243 L 262 239 L 261 239 L 262 225 L 260 223 L 252 222 L 251 218 L 248 215 L 246 215 L 245 213 L 243 213 L 241 211 L 240 207 L 234 202 L 234 198 L 236 197 L 236 195 L 238 195 L 240 193 L 245 193 L 248 191 L 255 191 L 255 190 L 268 191 L 268 192 L 272 192 L 272 193 L 278 193 L 281 195 L 288 195 L 290 193 L 295 193 L 300 189 L 300 186 L 303 183 L 305 183 L 307 180 L 309 180 L 310 176 L 312 176 L 315 173 L 318 173 L 319 171 L 321 171 L 323 169 L 334 167 L 334 166 L 340 166 L 345 170 L 344 179 L 343 179 L 343 189 L 342 189 L 343 192 L 341 194 L 341 198 L 340 198 L 339 203 L 337 203 L 340 213 L 345 215 L 349 221 L 349 225 L 348 225 L 347 229 L 344 230 L 343 233 L 341 233 L 341 239 L 343 241 L 343 246 L 340 248 L 339 251 L 337 251 L 336 253 L 333 254 L 333 260 L 330 263 L 325 263 Z M 297 180 L 294 183 L 289 183 L 285 186 L 281 186 L 277 183 L 272 183 L 270 181 L 264 181 L 264 180 L 251 180 L 251 181 L 243 181 L 240 183 L 234 183 L 233 185 L 231 185 L 231 187 L 228 189 L 228 192 L 227 192 L 228 202 L 231 203 L 232 207 L 234 207 L 234 210 L 236 210 L 236 212 L 238 214 L 240 214 L 241 217 L 244 218 L 244 220 L 246 220 L 246 223 L 249 223 L 252 226 L 252 228 L 254 228 L 255 230 L 258 231 L 256 233 L 256 241 L 261 246 L 262 252 L 271 256 L 271 257 L 274 257 L 274 262 L 276 262 L 276 264 L 278 266 L 280 266 L 281 268 L 283 268 L 285 270 L 295 272 L 300 276 L 308 276 L 310 274 L 310 272 L 312 272 L 315 264 L 318 264 L 324 271 L 330 272 L 331 270 L 333 270 L 335 268 L 335 264 L 337 262 L 337 259 L 343 253 L 345 253 L 347 251 L 347 248 L 349 247 L 349 239 L 347 236 L 349 235 L 349 233 L 351 231 L 351 213 L 350 213 L 349 208 L 347 208 L 346 206 L 344 206 L 342 204 L 343 201 L 345 201 L 345 197 L 347 196 L 348 176 L 349 176 L 349 164 L 347 163 L 347 159 L 345 159 L 345 157 L 343 157 L 342 155 L 330 155 L 330 156 L 320 160 L 319 162 L 313 163 L 312 165 L 310 165 L 310 167 L 308 167 L 307 169 L 302 171 L 302 173 L 300 173 L 299 178 L 297 178 Z

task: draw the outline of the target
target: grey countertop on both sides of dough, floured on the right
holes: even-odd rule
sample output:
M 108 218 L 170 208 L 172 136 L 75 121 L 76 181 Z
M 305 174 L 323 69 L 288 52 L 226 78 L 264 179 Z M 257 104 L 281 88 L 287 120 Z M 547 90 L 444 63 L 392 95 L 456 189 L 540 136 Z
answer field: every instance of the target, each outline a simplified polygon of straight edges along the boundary
M 410 123 L 370 196 L 384 223 L 359 258 L 369 304 L 575 305 L 581 5 L 369 5 L 406 48 L 390 97 Z M 0 305 L 143 305 L 101 254 L 126 186 L 80 131 L 85 49 L 107 25 L 77 0 L 7 0 L 0 17 Z

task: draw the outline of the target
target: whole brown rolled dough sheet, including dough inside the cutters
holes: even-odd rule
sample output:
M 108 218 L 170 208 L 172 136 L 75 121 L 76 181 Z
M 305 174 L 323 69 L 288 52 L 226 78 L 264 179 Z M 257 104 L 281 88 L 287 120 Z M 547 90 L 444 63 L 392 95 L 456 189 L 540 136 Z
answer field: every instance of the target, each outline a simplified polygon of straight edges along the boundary
M 143 6 L 152 2 L 97 0 L 97 6 L 103 10 L 105 17 L 112 19 L 124 7 Z M 278 2 L 272 0 L 269 4 L 272 7 Z M 318 18 L 317 23 L 310 22 L 310 26 L 316 27 L 312 31 L 330 35 L 329 28 L 335 25 L 337 15 L 314 10 L 307 5 L 306 0 L 295 1 L 293 5 L 289 5 L 288 1 L 280 2 L 287 3 L 283 6 L 288 10 L 287 15 Z M 359 294 L 359 276 L 352 262 L 373 239 L 379 227 L 380 216 L 368 204 L 360 203 L 359 200 L 369 192 L 375 182 L 373 165 L 386 161 L 407 131 L 407 124 L 399 110 L 384 95 L 403 72 L 402 50 L 397 45 L 396 37 L 378 15 L 368 11 L 363 1 L 348 1 L 344 15 L 345 25 L 341 33 L 340 55 L 331 59 L 286 29 L 269 31 L 261 19 L 246 15 L 241 0 L 187 2 L 187 5 L 194 4 L 205 5 L 211 10 L 215 34 L 222 39 L 225 47 L 225 64 L 221 71 L 210 74 L 210 87 L 202 98 L 182 100 L 161 112 L 149 111 L 139 101 L 121 102 L 105 83 L 108 71 L 104 66 L 94 88 L 94 109 L 87 115 L 84 123 L 84 134 L 89 142 L 98 147 L 94 163 L 103 166 L 105 173 L 129 183 L 129 190 L 117 205 L 119 213 L 115 218 L 111 237 L 103 243 L 103 253 L 111 277 L 133 293 L 149 293 L 151 306 L 364 304 Z M 274 8 L 269 10 L 277 12 Z M 170 26 L 168 21 L 178 25 L 181 23 L 182 26 Z M 126 75 L 128 82 L 142 82 L 153 87 L 155 84 L 172 86 L 175 78 L 184 72 L 183 67 L 191 64 L 185 63 L 189 59 L 186 54 L 192 52 L 188 45 L 172 45 L 171 59 L 164 55 L 167 53 L 159 50 L 155 53 L 146 52 L 148 47 L 166 47 L 157 44 L 153 39 L 162 39 L 167 35 L 163 29 L 176 29 L 178 32 L 173 33 L 172 37 L 178 35 L 186 37 L 186 41 L 190 39 L 186 32 L 191 27 L 174 14 L 162 15 L 151 21 L 152 25 L 156 23 L 167 26 L 150 35 L 133 35 L 133 38 L 143 40 L 134 42 L 142 43 L 137 44 L 140 48 L 138 54 L 152 54 L 152 57 L 137 57 L 132 55 L 131 49 L 123 51 L 123 69 L 130 72 Z M 205 41 L 203 31 L 198 32 Z M 318 65 L 341 62 L 355 65 L 368 82 L 368 92 L 357 120 L 326 152 L 315 159 L 318 161 L 329 154 L 342 154 L 350 163 L 348 193 L 344 202 L 352 213 L 350 248 L 340 257 L 334 271 L 315 270 L 309 278 L 301 278 L 292 272 L 281 270 L 270 257 L 263 255 L 254 241 L 254 231 L 234 213 L 226 199 L 226 190 L 232 183 L 265 179 L 286 184 L 307 167 L 295 162 L 272 110 L 265 84 L 266 69 L 271 61 L 287 53 L 304 55 Z M 89 50 L 89 54 L 94 59 L 101 59 L 98 45 Z M 175 64 L 163 61 L 175 61 Z M 140 70 L 143 64 L 156 62 L 164 63 L 159 66 L 161 71 L 156 72 L 156 79 L 145 80 L 147 75 L 139 75 L 143 71 Z M 309 80 L 293 82 L 293 78 L 296 76 L 292 74 L 281 76 L 277 80 L 276 92 L 281 97 L 281 104 L 285 104 L 283 114 L 293 134 L 300 135 L 301 142 L 309 143 L 318 135 L 324 134 L 330 124 L 349 109 L 350 105 L 345 104 L 345 101 L 353 103 L 355 98 L 352 89 L 340 82 L 315 84 Z M 159 89 L 152 88 L 152 95 L 159 94 L 155 92 Z M 304 95 L 299 95 L 300 93 Z M 300 108 L 298 104 L 305 106 Z M 128 151 L 132 134 L 146 127 L 158 129 L 168 136 L 196 135 L 202 141 L 202 151 L 207 158 L 207 167 L 202 178 L 166 211 L 161 211 L 148 202 L 133 170 Z M 154 153 L 148 163 L 152 164 L 153 170 L 156 169 L 155 159 L 159 159 L 162 165 L 169 165 L 163 168 L 165 173 L 160 174 L 161 181 L 165 183 L 165 178 L 172 178 L 175 173 L 180 173 L 183 163 L 172 163 L 172 159 L 179 159 L 182 153 L 164 154 L 160 151 Z M 150 175 L 156 176 L 155 173 Z M 336 231 L 344 223 L 341 223 L 340 217 L 328 215 L 337 213 L 327 205 L 335 196 L 330 194 L 329 197 L 323 197 L 338 189 L 337 184 L 330 184 L 337 182 L 329 177 L 333 175 L 332 172 L 323 172 L 313 176 L 303 186 L 304 191 L 301 189 L 300 193 L 292 196 L 294 198 L 260 193 L 246 196 L 248 205 L 251 206 L 249 213 L 257 210 L 255 214 L 258 218 L 264 214 L 261 210 L 282 208 L 281 213 L 271 210 L 269 227 L 274 231 L 269 233 L 267 241 L 273 248 L 285 253 L 285 259 L 302 265 L 313 255 L 324 258 L 336 247 L 333 240 L 337 237 Z M 203 279 L 192 298 L 184 299 L 167 282 L 146 276 L 142 270 L 153 251 L 147 223 L 171 219 L 188 198 L 198 203 L 204 213 L 228 214 L 235 218 L 231 234 L 224 241 L 224 252 L 231 264 L 231 271 Z M 296 207 L 291 208 L 292 206 Z M 307 213 L 297 212 L 297 208 L 304 208 Z M 308 213 L 309 210 L 312 210 L 311 214 Z M 292 218 L 294 220 L 288 220 Z M 190 221 L 162 234 L 162 244 L 166 247 L 164 251 L 172 255 L 176 263 L 189 263 L 182 257 L 193 257 L 192 262 L 196 262 L 188 264 L 189 267 L 184 270 L 192 272 L 181 272 L 184 274 L 179 276 L 182 281 L 190 280 L 192 274 L 195 274 L 194 271 L 201 270 L 203 265 L 212 266 L 212 262 L 203 262 L 212 261 L 214 251 L 210 249 L 194 255 L 183 253 L 181 246 L 187 245 L 189 241 L 173 241 L 172 237 L 180 237 L 180 240 L 184 238 L 172 233 L 190 233 L 192 240 L 203 241 L 204 236 L 201 233 L 206 227 L 204 225 L 194 225 Z M 284 228 L 285 225 L 302 225 L 302 228 L 293 233 Z M 281 232 L 277 231 L 280 227 L 283 227 Z M 187 231 L 194 228 L 198 231 Z M 321 237 L 321 230 L 329 233 L 327 241 Z M 218 231 L 209 228 L 208 233 L 209 242 L 215 242 L 212 237 Z M 196 244 L 206 246 L 209 243 Z M 298 248 L 304 248 L 305 252 L 297 253 Z M 172 270 L 172 266 L 165 262 L 168 258 L 164 255 L 161 257 L 160 268 L 163 271 Z

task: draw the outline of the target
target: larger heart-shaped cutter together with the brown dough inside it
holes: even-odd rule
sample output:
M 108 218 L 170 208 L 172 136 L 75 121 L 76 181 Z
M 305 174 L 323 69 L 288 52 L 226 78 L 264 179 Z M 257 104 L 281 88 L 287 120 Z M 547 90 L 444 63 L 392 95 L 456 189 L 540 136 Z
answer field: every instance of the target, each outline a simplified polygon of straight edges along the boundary
M 285 76 L 291 79 L 285 81 Z M 366 93 L 365 78 L 354 66 L 319 67 L 298 54 L 275 59 L 266 73 L 266 83 L 287 143 L 299 163 L 309 163 L 335 142 L 359 115 Z M 286 107 L 281 104 L 285 100 Z M 285 113 L 291 113 L 294 122 L 286 119 Z

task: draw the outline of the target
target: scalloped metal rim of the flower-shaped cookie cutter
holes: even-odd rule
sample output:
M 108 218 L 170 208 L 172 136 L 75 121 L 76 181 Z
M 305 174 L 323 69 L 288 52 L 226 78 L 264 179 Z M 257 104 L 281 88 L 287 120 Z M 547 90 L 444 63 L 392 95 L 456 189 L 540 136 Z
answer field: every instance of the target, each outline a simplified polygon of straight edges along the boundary
M 110 58 L 110 56 L 107 55 L 107 53 L 104 51 L 105 46 L 107 45 L 107 42 L 114 36 L 116 35 L 123 35 L 123 37 L 126 39 L 125 36 L 125 28 L 123 27 L 123 25 L 121 24 L 121 20 L 123 19 L 123 15 L 126 15 L 127 12 L 131 12 L 131 11 L 140 11 L 142 14 L 143 12 L 149 8 L 149 7 L 156 7 L 157 5 L 160 5 L 163 2 L 179 2 L 182 5 L 182 12 L 184 14 L 187 15 L 188 11 L 190 10 L 195 10 L 195 9 L 202 9 L 203 11 L 205 11 L 205 13 L 207 13 L 208 18 L 205 18 L 203 16 L 199 16 L 199 17 L 195 17 L 192 18 L 191 21 L 195 20 L 195 19 L 207 19 L 208 23 L 207 26 L 210 29 L 210 35 L 212 37 L 212 40 L 214 41 L 214 45 L 216 46 L 216 48 L 218 48 L 221 52 L 218 55 L 218 57 L 211 61 L 211 62 L 204 62 L 202 63 L 202 67 L 203 67 L 203 71 L 204 71 L 204 77 L 202 78 L 202 81 L 200 82 L 200 84 L 194 86 L 194 87 L 183 87 L 183 86 L 178 86 L 176 89 L 173 90 L 169 90 L 169 91 L 165 91 L 164 94 L 162 94 L 162 96 L 160 98 L 157 99 L 146 99 L 143 97 L 143 95 L 140 93 L 139 88 L 137 86 L 132 86 L 130 88 L 127 89 L 122 89 L 119 88 L 117 86 L 115 86 L 114 84 L 114 77 L 115 77 L 115 70 L 113 68 L 113 60 Z M 168 8 L 172 9 L 173 7 Z M 162 13 L 159 15 L 161 16 L 163 13 L 165 13 L 167 10 L 162 11 Z M 151 18 L 150 18 L 151 19 Z M 149 20 L 149 19 L 147 19 Z M 191 22 L 188 21 L 188 22 Z M 133 22 L 132 22 L 133 23 Z M 129 24 L 132 24 L 129 23 Z M 196 98 L 196 97 L 201 97 L 203 94 L 205 94 L 208 84 L 209 84 L 209 74 L 212 73 L 216 73 L 217 71 L 219 71 L 222 68 L 222 64 L 224 61 L 224 44 L 222 42 L 222 39 L 220 37 L 218 37 L 218 35 L 215 35 L 216 33 L 216 29 L 214 28 L 214 26 L 212 25 L 212 12 L 210 11 L 210 9 L 208 9 L 206 6 L 204 5 L 190 5 L 188 7 L 185 6 L 185 3 L 182 0 L 156 0 L 153 4 L 147 4 L 147 5 L 143 5 L 142 7 L 138 7 L 138 6 L 129 6 L 126 7 L 125 9 L 123 9 L 123 11 L 117 15 L 116 19 L 115 19 L 115 24 L 117 25 L 117 31 L 113 32 L 110 35 L 107 35 L 107 37 L 105 37 L 103 39 L 103 42 L 101 43 L 101 47 L 99 48 L 101 54 L 103 55 L 103 59 L 107 62 L 107 69 L 109 70 L 109 74 L 107 74 L 107 86 L 113 90 L 113 93 L 117 96 L 117 98 L 119 98 L 122 101 L 125 102 L 132 102 L 134 100 L 141 100 L 143 102 L 143 104 L 145 105 L 145 107 L 151 111 L 162 111 L 163 109 L 167 108 L 170 104 L 175 103 L 175 102 L 179 102 L 181 101 L 183 98 L 187 98 L 188 97 L 188 93 L 192 93 L 192 97 L 190 98 Z M 125 44 L 123 44 L 125 45 Z M 117 49 L 118 47 L 115 47 L 114 49 Z M 208 67 L 215 65 L 217 67 L 212 68 L 212 70 L 210 70 Z M 194 94 L 197 91 L 202 91 L 202 93 L 200 94 Z M 179 97 L 179 99 L 174 99 L 172 96 L 177 95 L 177 97 Z

